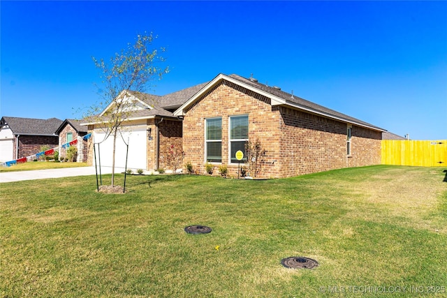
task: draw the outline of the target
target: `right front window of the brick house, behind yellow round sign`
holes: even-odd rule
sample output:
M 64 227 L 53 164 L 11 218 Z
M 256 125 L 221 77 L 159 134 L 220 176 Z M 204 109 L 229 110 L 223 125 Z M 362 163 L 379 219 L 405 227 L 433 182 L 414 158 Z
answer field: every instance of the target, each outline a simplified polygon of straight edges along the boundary
M 245 154 L 245 143 L 249 140 L 249 117 L 248 115 L 230 117 L 230 161 L 237 163 L 235 154 L 238 150 L 244 152 L 242 162 L 247 161 Z

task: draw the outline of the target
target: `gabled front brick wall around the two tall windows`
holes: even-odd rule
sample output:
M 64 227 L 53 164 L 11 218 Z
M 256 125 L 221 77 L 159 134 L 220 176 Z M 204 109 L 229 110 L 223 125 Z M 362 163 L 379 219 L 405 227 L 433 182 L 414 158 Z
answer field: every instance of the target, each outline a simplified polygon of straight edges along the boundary
M 228 165 L 228 117 L 249 115 L 249 139 L 258 138 L 267 151 L 263 177 L 277 177 L 274 159 L 279 151 L 279 118 L 272 112 L 270 98 L 225 82 L 204 94 L 187 112 L 183 121 L 184 163 L 204 173 L 205 119 L 222 118 L 222 163 Z M 216 169 L 214 174 L 219 174 Z M 237 175 L 237 165 L 228 165 L 228 174 Z

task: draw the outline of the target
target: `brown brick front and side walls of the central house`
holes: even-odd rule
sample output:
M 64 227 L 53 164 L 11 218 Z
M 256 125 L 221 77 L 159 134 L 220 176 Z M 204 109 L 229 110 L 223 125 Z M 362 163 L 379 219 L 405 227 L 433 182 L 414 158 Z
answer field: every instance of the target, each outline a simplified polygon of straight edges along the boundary
M 186 111 L 184 162 L 204 172 L 205 119 L 222 117 L 222 163 L 228 165 L 228 117 L 249 115 L 249 139 L 259 138 L 267 153 L 258 177 L 291 177 L 342 167 L 380 164 L 381 133 L 353 126 L 352 155 L 346 155 L 347 124 L 288 107 L 229 82 L 204 94 Z M 235 175 L 237 166 L 229 166 Z M 217 168 L 215 174 L 217 174 Z

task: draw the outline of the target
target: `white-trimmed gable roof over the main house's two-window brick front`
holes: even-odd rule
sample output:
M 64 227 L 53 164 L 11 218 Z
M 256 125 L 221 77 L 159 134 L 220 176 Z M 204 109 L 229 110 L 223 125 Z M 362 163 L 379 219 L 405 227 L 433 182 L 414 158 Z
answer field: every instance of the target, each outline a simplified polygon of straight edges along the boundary
M 327 117 L 330 119 L 335 119 L 337 121 L 343 121 L 350 124 L 355 124 L 358 126 L 374 129 L 376 131 L 385 131 L 383 128 L 379 128 L 372 124 L 368 124 L 365 121 L 361 121 L 359 119 L 350 117 L 346 114 L 342 114 L 335 110 L 328 109 L 327 107 L 323 107 L 322 105 L 317 105 L 316 103 L 312 103 L 309 100 L 305 100 L 298 96 L 294 96 L 293 94 L 288 94 L 287 92 L 281 91 L 275 87 L 270 87 L 265 84 L 258 83 L 256 80 L 249 80 L 244 77 L 240 77 L 239 75 L 223 75 L 219 74 L 215 77 L 211 82 L 205 85 L 203 89 L 187 100 L 181 107 L 179 107 L 174 114 L 176 116 L 182 116 L 185 114 L 185 110 L 187 107 L 193 105 L 196 100 L 199 100 L 200 97 L 205 94 L 208 90 L 215 87 L 217 84 L 220 84 L 222 80 L 226 80 L 228 82 L 232 82 L 233 84 L 237 84 L 240 87 L 244 87 L 250 91 L 254 91 L 257 94 L 261 94 L 270 98 L 272 105 L 284 105 L 287 107 L 293 107 L 298 110 L 303 110 L 305 112 L 309 112 L 312 114 L 318 114 L 323 117 Z

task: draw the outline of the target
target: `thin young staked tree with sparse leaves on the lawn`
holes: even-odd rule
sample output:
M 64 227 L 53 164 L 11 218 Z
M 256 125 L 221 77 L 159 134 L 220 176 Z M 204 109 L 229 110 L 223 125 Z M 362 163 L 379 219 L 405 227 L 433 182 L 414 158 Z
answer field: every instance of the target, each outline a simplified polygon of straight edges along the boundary
M 101 126 L 105 138 L 113 137 L 112 145 L 112 187 L 115 186 L 115 145 L 122 131 L 122 124 L 138 110 L 138 104 L 126 98 L 126 91 L 144 92 L 153 87 L 154 80 L 160 80 L 168 73 L 162 67 L 165 59 L 160 53 L 165 48 L 152 49 L 156 36 L 151 33 L 138 34 L 135 43 L 129 43 L 125 50 L 115 53 L 110 61 L 92 57 L 100 71 L 101 84 L 97 84 L 101 102 L 89 108 L 85 115 L 90 121 Z

